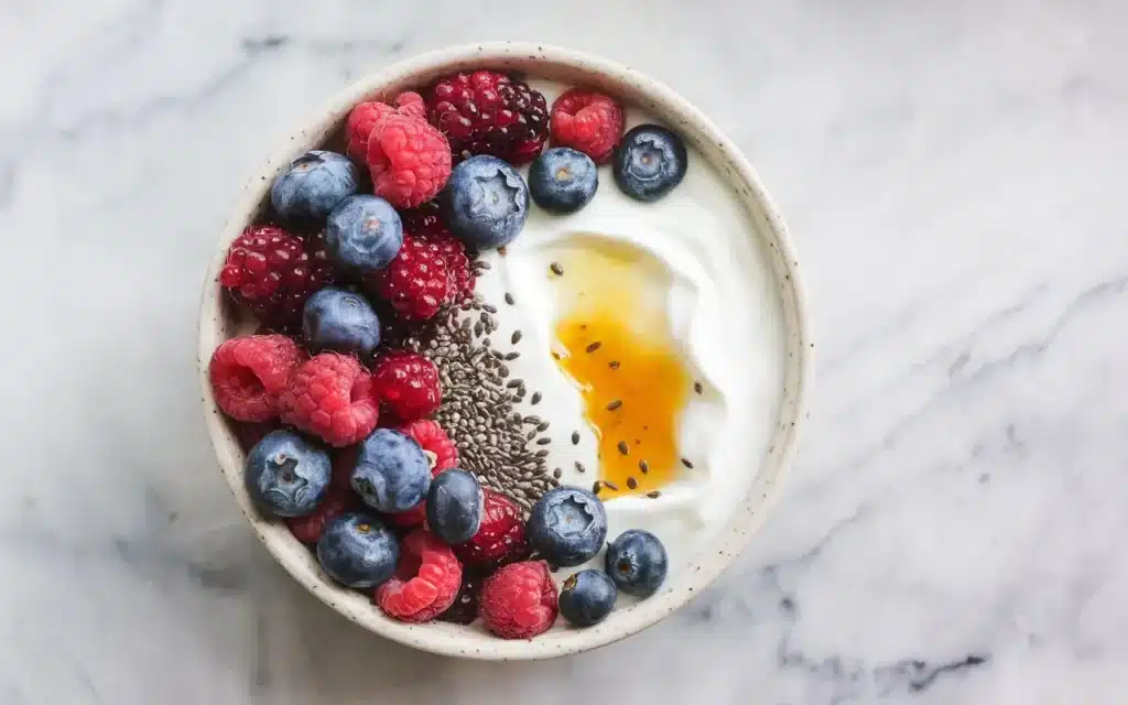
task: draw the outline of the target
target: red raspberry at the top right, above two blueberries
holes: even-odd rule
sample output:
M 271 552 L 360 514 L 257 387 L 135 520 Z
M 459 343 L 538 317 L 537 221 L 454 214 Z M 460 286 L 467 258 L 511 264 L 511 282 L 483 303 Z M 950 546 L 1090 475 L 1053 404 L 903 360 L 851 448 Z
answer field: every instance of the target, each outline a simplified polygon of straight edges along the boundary
M 607 164 L 623 136 L 623 106 L 602 94 L 572 88 L 553 102 L 550 130 L 554 144 Z

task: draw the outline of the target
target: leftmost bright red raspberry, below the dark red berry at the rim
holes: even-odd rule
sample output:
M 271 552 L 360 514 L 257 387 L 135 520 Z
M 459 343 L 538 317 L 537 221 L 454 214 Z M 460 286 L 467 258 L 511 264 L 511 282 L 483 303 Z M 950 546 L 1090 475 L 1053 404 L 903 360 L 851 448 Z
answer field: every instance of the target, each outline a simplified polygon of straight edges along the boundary
M 238 421 L 277 418 L 279 395 L 305 359 L 306 353 L 284 335 L 224 341 L 208 368 L 215 403 Z

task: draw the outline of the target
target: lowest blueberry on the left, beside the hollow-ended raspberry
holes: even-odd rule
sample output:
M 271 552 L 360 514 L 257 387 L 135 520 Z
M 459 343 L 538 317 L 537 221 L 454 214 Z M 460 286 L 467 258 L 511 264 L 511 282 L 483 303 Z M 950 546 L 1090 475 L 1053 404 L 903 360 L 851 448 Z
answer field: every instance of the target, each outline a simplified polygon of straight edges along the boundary
M 396 535 L 372 517 L 347 512 L 325 526 L 317 559 L 343 585 L 374 588 L 395 574 L 399 545 Z

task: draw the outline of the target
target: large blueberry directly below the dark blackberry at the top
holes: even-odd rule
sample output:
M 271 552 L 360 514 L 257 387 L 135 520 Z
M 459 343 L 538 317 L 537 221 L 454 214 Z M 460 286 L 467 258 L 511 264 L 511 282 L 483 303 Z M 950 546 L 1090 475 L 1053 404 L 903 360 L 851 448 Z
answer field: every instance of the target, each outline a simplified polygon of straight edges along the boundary
M 509 244 L 529 215 L 525 179 L 501 159 L 485 155 L 455 167 L 440 199 L 447 227 L 474 249 Z

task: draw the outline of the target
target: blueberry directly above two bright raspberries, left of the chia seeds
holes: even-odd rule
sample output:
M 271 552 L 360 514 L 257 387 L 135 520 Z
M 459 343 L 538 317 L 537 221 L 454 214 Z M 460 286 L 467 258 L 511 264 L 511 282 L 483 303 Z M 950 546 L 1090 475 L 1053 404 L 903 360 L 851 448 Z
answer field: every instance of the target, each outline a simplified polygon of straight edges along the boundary
M 364 297 L 329 287 L 306 301 L 301 333 L 311 350 L 332 350 L 368 362 L 380 344 L 380 319 Z

